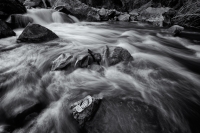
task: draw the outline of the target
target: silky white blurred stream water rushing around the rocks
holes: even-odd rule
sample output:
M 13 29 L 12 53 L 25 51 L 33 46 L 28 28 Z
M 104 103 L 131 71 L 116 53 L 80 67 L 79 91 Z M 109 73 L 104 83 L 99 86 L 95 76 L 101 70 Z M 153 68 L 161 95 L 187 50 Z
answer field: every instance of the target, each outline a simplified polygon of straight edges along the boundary
M 17 36 L 0 40 L 0 127 L 11 125 L 16 133 L 78 133 L 70 104 L 91 95 L 137 99 L 155 107 L 163 133 L 200 132 L 199 32 L 185 30 L 173 37 L 142 23 L 78 22 L 73 16 L 76 23 L 62 23 L 49 9 L 31 9 L 26 15 L 59 39 L 17 44 L 23 29 L 16 29 Z M 106 68 L 103 76 L 88 69 L 51 71 L 52 61 L 62 53 L 99 52 L 106 45 L 127 49 L 134 61 Z M 123 113 L 132 110 L 113 108 L 110 115 L 126 125 L 113 128 L 134 132 Z M 26 116 L 34 116 L 29 128 Z

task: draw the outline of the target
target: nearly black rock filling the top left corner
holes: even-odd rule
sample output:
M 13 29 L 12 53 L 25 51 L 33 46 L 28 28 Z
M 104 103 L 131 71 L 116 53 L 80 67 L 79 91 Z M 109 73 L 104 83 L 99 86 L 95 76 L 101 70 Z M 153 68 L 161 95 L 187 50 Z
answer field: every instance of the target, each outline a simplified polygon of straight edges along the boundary
M 7 15 L 23 14 L 26 8 L 18 0 L 0 0 L 0 11 Z

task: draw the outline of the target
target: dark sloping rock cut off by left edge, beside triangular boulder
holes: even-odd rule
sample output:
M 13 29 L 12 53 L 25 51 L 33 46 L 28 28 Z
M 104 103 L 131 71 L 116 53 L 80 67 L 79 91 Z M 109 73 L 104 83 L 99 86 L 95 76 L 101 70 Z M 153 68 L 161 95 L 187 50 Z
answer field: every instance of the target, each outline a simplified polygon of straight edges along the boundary
M 5 22 L 0 20 L 0 38 L 15 36 L 15 32 L 7 26 Z

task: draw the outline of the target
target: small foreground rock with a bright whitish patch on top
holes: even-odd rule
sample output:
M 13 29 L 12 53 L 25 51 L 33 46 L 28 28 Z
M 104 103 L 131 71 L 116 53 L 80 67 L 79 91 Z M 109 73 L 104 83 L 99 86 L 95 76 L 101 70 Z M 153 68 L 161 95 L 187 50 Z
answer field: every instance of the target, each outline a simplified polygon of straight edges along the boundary
M 87 96 L 71 105 L 72 115 L 81 128 L 95 115 L 100 105 L 100 99 Z

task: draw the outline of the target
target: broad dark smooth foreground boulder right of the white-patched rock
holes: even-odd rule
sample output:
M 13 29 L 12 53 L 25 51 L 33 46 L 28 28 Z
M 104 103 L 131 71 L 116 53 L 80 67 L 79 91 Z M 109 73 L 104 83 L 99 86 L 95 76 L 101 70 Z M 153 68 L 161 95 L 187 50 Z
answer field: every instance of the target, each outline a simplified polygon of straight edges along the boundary
M 157 115 L 155 107 L 137 100 L 104 98 L 84 129 L 87 133 L 162 133 Z

